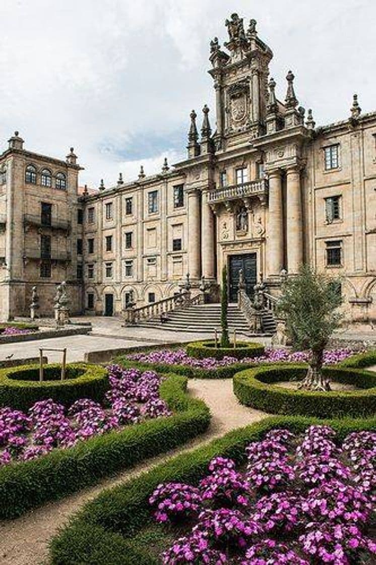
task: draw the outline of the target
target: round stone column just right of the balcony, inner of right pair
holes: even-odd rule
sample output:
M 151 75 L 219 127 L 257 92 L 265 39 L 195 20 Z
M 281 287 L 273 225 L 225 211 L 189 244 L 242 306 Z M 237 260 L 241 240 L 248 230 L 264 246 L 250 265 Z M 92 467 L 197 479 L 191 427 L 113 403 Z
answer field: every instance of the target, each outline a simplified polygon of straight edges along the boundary
M 283 210 L 281 171 L 269 172 L 268 275 L 279 275 L 283 268 Z

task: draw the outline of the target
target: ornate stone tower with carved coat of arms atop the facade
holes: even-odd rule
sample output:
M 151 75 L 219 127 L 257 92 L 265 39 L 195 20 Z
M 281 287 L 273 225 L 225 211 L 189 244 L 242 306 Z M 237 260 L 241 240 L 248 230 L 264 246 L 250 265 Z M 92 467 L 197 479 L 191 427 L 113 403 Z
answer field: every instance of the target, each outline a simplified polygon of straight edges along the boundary
M 257 37 L 256 21 L 244 32 L 243 19 L 232 14 L 226 20 L 229 41 L 221 50 L 211 41 L 209 71 L 216 90 L 216 149 L 249 143 L 265 133 L 269 62 L 273 53 Z

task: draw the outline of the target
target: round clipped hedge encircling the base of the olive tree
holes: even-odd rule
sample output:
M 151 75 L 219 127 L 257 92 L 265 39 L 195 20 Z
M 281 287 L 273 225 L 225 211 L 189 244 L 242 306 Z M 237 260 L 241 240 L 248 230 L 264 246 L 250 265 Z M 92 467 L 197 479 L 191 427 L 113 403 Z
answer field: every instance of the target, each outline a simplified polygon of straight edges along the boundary
M 315 392 L 291 390 L 274 383 L 301 380 L 304 365 L 247 369 L 234 375 L 233 390 L 241 404 L 272 414 L 318 418 L 364 418 L 376 414 L 376 373 L 347 367 L 325 367 L 330 381 L 355 385 L 358 390 Z

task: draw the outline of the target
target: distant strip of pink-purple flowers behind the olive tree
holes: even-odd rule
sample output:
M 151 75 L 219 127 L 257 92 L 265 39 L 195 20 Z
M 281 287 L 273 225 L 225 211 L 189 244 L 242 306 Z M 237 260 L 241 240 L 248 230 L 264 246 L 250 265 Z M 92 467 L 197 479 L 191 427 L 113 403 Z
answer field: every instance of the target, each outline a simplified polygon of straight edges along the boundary
M 350 349 L 327 350 L 323 362 L 325 365 L 341 363 L 352 355 L 353 351 Z M 126 355 L 117 359 L 117 362 L 124 366 L 133 364 L 142 368 L 154 368 L 156 371 L 172 371 L 198 379 L 228 379 L 246 367 L 270 363 L 306 363 L 308 359 L 307 351 L 290 352 L 272 348 L 265 349 L 265 353 L 258 357 L 241 360 L 234 357 L 196 359 L 190 357 L 185 349 L 156 349 Z

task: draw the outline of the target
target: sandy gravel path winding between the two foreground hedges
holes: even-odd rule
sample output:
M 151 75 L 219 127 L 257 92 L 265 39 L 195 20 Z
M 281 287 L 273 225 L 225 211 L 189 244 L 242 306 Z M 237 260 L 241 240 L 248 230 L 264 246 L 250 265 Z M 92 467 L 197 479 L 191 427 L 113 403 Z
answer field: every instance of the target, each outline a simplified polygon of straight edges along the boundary
M 47 564 L 47 544 L 69 516 L 85 502 L 94 498 L 100 490 L 123 483 L 124 481 L 161 463 L 172 455 L 182 453 L 203 445 L 213 438 L 259 421 L 267 416 L 265 412 L 252 410 L 238 404 L 232 390 L 232 379 L 189 381 L 189 391 L 197 398 L 202 398 L 212 412 L 212 423 L 205 434 L 189 442 L 184 447 L 169 451 L 147 462 L 139 464 L 133 470 L 120 473 L 99 485 L 81 490 L 79 493 L 61 501 L 49 503 L 12 521 L 0 522 L 0 563 L 1 565 L 41 565 Z

